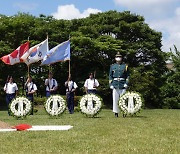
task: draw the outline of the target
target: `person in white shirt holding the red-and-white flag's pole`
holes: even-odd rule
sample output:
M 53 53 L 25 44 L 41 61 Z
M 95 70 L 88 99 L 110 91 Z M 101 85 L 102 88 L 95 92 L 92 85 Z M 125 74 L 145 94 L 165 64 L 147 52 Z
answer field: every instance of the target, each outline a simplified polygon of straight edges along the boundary
M 29 76 L 25 83 L 26 97 L 32 102 L 32 111 L 31 115 L 33 115 L 34 108 L 34 93 L 37 91 L 37 86 L 32 82 L 32 77 Z

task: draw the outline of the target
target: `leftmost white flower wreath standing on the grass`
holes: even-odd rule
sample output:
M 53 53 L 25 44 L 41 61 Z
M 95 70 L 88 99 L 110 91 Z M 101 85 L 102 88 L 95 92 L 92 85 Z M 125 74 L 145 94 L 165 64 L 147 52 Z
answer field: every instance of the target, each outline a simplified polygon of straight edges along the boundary
M 32 103 L 25 97 L 16 97 L 9 104 L 10 111 L 16 117 L 25 117 L 32 109 Z

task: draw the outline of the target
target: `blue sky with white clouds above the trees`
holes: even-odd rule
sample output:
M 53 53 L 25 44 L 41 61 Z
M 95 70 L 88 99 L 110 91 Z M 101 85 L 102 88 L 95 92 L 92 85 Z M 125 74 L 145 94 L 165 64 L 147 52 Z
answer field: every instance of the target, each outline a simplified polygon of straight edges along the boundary
M 180 0 L 1 0 L 0 14 L 25 12 L 34 16 L 52 15 L 56 19 L 88 17 L 109 10 L 131 11 L 144 16 L 154 30 L 162 32 L 162 50 L 176 45 L 180 49 Z

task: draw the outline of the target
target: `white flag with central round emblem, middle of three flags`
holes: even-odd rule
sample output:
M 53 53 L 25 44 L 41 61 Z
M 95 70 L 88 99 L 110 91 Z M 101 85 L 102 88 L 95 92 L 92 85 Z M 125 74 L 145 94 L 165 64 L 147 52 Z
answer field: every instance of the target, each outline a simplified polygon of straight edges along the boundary
M 21 59 L 27 64 L 38 62 L 42 60 L 46 55 L 46 52 L 49 51 L 48 39 L 43 42 L 31 47 L 28 52 L 26 52 Z

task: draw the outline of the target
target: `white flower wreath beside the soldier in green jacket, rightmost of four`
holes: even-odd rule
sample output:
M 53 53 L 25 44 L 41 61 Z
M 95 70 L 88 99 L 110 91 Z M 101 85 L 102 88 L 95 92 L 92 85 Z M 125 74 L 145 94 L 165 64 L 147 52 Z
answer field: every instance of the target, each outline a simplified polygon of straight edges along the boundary
M 141 95 L 137 92 L 126 92 L 119 99 L 119 107 L 123 114 L 137 113 L 142 107 Z

